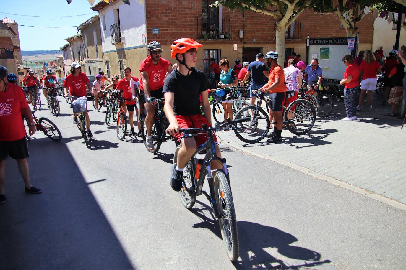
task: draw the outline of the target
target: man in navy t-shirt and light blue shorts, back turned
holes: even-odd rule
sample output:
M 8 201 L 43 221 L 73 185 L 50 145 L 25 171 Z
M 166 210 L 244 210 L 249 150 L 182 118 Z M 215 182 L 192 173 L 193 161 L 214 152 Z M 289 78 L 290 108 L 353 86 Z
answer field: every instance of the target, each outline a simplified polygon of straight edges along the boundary
M 257 60 L 251 62 L 248 65 L 247 73 L 245 74 L 244 79 L 240 83 L 241 85 L 244 84 L 248 77 L 251 76 L 251 85 L 250 85 L 250 103 L 251 105 L 255 104 L 255 99 L 258 95 L 253 95 L 253 90 L 258 90 L 265 84 L 263 81 L 263 76 L 269 78 L 268 68 L 266 64 L 263 62 L 263 54 L 257 53 Z

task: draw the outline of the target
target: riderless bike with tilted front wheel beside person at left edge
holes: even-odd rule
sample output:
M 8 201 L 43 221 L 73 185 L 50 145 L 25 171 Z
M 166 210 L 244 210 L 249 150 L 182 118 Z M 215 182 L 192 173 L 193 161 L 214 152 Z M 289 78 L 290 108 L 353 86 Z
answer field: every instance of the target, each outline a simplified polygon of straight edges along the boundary
M 35 112 L 37 110 L 32 110 L 32 119 L 34 120 L 34 125 L 35 125 L 35 130 L 37 131 L 42 131 L 48 138 L 55 142 L 59 142 L 62 140 L 62 135 L 60 134 L 59 129 L 56 127 L 56 125 L 48 118 L 45 117 L 40 117 L 37 119 L 35 116 Z M 23 122 L 24 122 L 24 128 L 26 130 L 26 138 L 28 140 L 31 139 L 30 135 L 30 123 L 28 122 L 28 118 L 23 115 Z

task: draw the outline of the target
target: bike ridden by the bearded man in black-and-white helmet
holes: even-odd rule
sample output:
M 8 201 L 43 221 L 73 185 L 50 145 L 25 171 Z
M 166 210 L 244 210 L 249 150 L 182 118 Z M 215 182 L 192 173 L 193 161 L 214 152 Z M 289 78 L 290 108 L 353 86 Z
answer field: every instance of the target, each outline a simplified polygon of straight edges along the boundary
M 155 120 L 153 122 L 152 130 L 151 130 L 151 135 L 152 139 L 154 141 L 154 150 L 149 150 L 147 147 L 147 125 L 145 123 L 145 118 L 141 117 L 140 110 L 138 110 L 138 113 L 140 116 L 138 119 L 141 121 L 141 136 L 143 138 L 143 142 L 147 150 L 151 153 L 156 153 L 159 151 L 162 142 L 166 142 L 171 138 L 171 136 L 167 135 L 165 133 L 166 128 L 169 126 L 169 121 L 166 118 L 165 112 L 164 112 L 164 104 L 165 104 L 165 99 L 164 98 L 157 98 L 156 100 L 156 106 L 155 106 Z M 138 107 L 138 98 L 137 98 L 137 107 Z M 139 108 L 139 107 L 138 107 Z M 144 107 L 145 110 L 145 107 Z M 146 115 L 146 112 L 144 112 Z

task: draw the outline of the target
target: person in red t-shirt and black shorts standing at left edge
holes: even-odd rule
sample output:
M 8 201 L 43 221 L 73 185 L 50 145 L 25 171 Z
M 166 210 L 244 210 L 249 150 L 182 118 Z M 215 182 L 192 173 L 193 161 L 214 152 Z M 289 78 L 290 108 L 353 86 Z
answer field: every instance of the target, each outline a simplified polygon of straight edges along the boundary
M 25 192 L 38 194 L 42 190 L 33 187 L 30 183 L 30 174 L 27 163 L 28 144 L 26 130 L 22 121 L 22 114 L 29 123 L 30 135 L 35 133 L 35 124 L 32 113 L 18 85 L 7 82 L 7 68 L 0 66 L 0 204 L 7 199 L 4 195 L 4 168 L 6 159 L 10 156 L 17 161 L 18 170 L 25 183 Z

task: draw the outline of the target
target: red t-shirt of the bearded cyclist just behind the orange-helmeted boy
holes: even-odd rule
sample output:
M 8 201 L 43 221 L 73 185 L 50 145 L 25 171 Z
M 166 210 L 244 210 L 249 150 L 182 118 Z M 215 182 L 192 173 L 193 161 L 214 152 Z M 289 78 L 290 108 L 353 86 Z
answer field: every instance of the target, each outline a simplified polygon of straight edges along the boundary
M 140 64 L 140 72 L 144 71 L 148 74 L 149 91 L 155 91 L 164 86 L 165 75 L 171 62 L 161 57 L 158 65 L 151 61 L 151 56 L 148 56 Z M 143 80 L 140 79 L 140 89 L 144 91 Z

